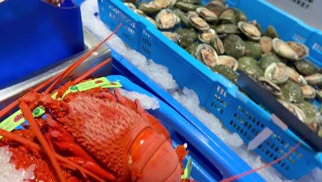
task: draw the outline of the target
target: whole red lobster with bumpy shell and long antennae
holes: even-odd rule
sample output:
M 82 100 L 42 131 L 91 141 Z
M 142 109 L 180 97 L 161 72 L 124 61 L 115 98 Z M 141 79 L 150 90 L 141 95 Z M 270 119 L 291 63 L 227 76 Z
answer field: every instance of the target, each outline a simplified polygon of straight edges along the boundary
M 2 145 L 9 145 L 12 152 L 11 162 L 17 169 L 35 164 L 33 181 L 180 181 L 180 161 L 188 152 L 182 145 L 173 150 L 167 129 L 138 100 L 130 101 L 117 89 L 114 94 L 105 88 L 67 94 L 62 101 L 48 94 L 100 45 L 0 111 L 3 117 L 19 104 L 29 123 L 25 125 L 28 130 L 0 130 Z M 58 88 L 57 97 L 94 70 Z M 45 92 L 36 92 L 49 83 Z M 46 121 L 32 115 L 39 105 L 45 108 Z

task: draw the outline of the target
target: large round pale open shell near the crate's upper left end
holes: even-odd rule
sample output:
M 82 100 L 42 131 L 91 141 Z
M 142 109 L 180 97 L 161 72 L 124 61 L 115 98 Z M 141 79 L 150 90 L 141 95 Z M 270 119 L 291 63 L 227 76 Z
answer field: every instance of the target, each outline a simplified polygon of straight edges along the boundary
M 180 18 L 172 10 L 163 9 L 156 15 L 155 22 L 161 30 L 168 30 L 180 23 Z

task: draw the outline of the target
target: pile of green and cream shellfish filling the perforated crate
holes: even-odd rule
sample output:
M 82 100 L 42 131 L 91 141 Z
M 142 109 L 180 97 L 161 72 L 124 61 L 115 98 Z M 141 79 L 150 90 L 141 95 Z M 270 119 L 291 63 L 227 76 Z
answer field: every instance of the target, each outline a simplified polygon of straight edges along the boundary
M 322 70 L 305 45 L 283 41 L 273 26 L 262 30 L 224 0 L 123 2 L 213 72 L 233 83 L 246 72 L 322 137 L 321 110 L 312 104 L 322 99 Z

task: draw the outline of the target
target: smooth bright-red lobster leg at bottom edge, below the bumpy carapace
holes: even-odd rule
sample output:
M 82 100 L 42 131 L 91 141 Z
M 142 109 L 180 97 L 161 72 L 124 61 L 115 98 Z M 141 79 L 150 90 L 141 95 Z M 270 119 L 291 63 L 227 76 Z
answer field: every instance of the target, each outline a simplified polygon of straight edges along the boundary
M 116 181 L 116 176 L 107 172 L 106 170 L 101 168 L 96 163 L 92 163 L 91 161 L 87 161 L 87 160 L 85 160 L 81 157 L 77 157 L 77 156 L 70 156 L 70 157 L 67 157 L 67 159 L 69 159 L 69 161 L 72 161 L 78 165 L 81 165 L 83 168 L 85 168 L 91 172 L 94 172 L 95 174 L 97 174 L 98 176 L 100 176 L 101 178 L 103 178 L 105 180 Z

